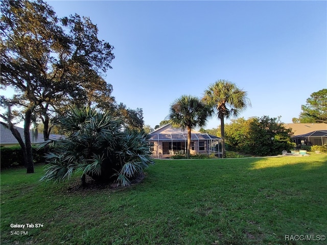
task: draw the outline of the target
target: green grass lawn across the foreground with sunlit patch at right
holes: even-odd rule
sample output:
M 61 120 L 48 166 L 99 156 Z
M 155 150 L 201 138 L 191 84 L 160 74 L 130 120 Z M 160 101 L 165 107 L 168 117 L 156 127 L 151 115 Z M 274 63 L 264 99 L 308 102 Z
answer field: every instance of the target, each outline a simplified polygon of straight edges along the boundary
M 327 244 L 326 154 L 156 160 L 125 189 L 25 171 L 1 173 L 1 244 Z

